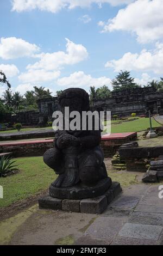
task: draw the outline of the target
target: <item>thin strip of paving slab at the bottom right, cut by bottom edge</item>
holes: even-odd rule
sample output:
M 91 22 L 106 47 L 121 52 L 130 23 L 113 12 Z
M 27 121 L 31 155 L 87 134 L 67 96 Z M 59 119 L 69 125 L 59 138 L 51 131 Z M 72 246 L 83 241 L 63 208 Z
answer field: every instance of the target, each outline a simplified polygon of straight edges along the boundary
M 117 236 L 111 245 L 159 245 L 158 241 Z

